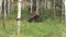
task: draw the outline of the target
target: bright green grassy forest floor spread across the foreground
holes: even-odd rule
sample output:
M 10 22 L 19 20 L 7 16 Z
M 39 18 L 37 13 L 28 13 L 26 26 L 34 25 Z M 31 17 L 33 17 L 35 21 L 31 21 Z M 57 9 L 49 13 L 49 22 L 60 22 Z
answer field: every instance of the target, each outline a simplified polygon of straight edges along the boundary
M 0 21 L 0 37 L 16 37 L 16 21 Z M 21 22 L 21 37 L 66 37 L 66 25 L 58 20 L 47 20 L 44 22 Z

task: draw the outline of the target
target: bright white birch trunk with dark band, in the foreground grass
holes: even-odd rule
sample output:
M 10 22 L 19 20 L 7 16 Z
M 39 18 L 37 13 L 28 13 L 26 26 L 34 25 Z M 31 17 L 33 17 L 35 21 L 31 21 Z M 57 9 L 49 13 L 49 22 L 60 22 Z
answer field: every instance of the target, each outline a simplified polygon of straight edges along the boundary
M 20 36 L 20 23 L 21 23 L 21 0 L 18 0 L 18 36 Z

